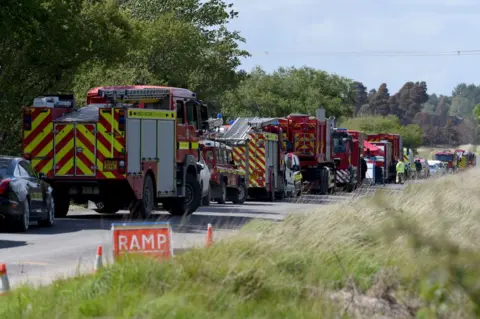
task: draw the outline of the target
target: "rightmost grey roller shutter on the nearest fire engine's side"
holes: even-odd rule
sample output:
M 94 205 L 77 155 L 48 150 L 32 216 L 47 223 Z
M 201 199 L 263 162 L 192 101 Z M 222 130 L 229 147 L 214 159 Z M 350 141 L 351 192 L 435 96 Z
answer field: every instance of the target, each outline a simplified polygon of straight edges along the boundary
M 175 139 L 174 138 L 162 138 L 175 136 L 175 121 L 172 120 L 158 120 L 157 121 L 157 154 L 159 159 L 157 170 L 157 192 L 161 196 L 162 194 L 168 194 L 172 192 L 176 194 L 176 168 L 175 168 Z

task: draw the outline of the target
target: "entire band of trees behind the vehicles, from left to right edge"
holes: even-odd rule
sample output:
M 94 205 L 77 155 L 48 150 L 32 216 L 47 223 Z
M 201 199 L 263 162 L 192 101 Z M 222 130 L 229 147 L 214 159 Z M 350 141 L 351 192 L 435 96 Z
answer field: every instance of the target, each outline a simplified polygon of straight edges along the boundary
M 0 153 L 20 151 L 20 107 L 39 94 L 153 84 L 195 91 L 227 118 L 315 114 L 352 128 L 400 133 L 419 143 L 478 139 L 480 86 L 458 84 L 451 96 L 409 81 L 368 89 L 311 67 L 241 70 L 246 39 L 228 23 L 239 12 L 224 0 L 5 0 L 0 10 Z

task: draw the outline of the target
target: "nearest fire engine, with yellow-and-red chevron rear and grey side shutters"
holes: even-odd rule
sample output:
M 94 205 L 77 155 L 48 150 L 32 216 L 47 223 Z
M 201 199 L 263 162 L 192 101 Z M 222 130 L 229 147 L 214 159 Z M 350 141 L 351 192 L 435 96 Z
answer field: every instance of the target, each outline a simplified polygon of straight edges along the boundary
M 182 88 L 97 87 L 78 109 L 73 95 L 43 95 L 23 109 L 23 156 L 52 185 L 57 217 L 71 200 L 142 218 L 160 203 L 191 214 L 201 203 L 197 132 L 207 118 Z

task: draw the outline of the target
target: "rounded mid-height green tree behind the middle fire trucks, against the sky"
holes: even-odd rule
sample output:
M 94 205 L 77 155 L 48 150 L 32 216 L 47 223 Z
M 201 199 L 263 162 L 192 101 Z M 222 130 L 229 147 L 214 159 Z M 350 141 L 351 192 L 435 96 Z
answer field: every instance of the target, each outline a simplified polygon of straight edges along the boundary
M 221 105 L 229 117 L 314 115 L 319 107 L 338 117 L 353 113 L 354 92 L 349 79 L 325 71 L 279 68 L 267 74 L 257 67 L 238 88 L 222 96 Z

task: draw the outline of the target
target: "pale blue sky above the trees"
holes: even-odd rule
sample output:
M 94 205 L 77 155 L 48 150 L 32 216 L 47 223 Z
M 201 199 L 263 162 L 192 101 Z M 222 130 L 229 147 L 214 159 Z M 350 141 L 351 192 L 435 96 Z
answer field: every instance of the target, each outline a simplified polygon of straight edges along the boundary
M 239 18 L 230 23 L 247 40 L 259 65 L 310 66 L 363 82 L 385 82 L 396 93 L 406 81 L 426 81 L 428 93 L 450 95 L 480 77 L 479 0 L 232 0 Z M 438 56 L 479 50 L 479 55 Z M 416 51 L 422 56 L 362 56 L 342 52 Z M 341 54 L 325 54 L 341 52 Z M 425 56 L 430 52 L 436 56 Z

